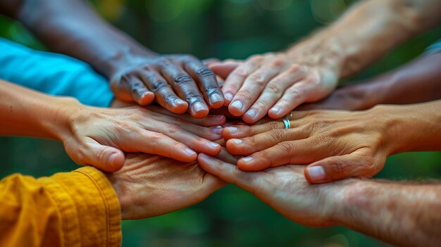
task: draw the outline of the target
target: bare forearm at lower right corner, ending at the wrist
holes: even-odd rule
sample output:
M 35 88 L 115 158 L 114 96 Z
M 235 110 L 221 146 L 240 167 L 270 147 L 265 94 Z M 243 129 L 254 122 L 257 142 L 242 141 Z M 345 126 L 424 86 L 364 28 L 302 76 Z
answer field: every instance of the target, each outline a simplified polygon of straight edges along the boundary
M 398 246 L 441 241 L 441 185 L 358 181 L 347 189 L 337 222 Z

